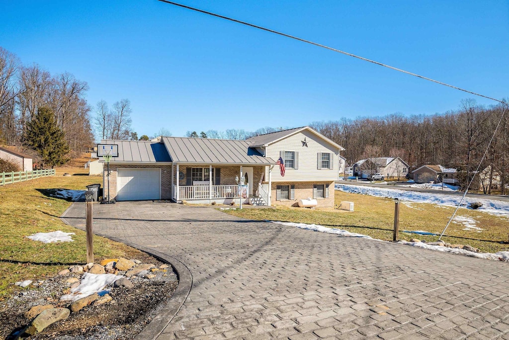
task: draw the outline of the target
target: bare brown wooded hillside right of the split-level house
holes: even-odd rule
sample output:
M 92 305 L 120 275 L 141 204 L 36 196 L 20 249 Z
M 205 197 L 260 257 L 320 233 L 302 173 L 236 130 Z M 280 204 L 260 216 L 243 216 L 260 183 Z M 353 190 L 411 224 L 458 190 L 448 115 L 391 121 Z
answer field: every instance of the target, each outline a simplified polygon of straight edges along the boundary
M 479 172 L 488 169 L 482 176 L 488 177 L 489 187 L 499 175 L 504 194 L 509 183 L 509 112 L 500 121 L 502 112 L 502 104 L 487 107 L 466 99 L 457 110 L 431 116 L 343 118 L 310 126 L 345 148 L 347 164 L 369 157 L 401 157 L 411 170 L 441 164 L 457 168 L 463 186 L 475 174 L 493 137 Z

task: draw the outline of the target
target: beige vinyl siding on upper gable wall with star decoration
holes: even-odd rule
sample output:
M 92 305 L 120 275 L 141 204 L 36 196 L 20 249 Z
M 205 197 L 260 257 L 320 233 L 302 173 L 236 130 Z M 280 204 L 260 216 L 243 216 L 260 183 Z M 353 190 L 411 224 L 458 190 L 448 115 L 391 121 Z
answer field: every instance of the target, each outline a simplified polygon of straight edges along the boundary
M 307 147 L 302 146 L 304 137 Z M 281 151 L 298 152 L 298 168 L 286 168 L 285 177 L 281 177 L 279 166 L 274 165 L 271 173 L 272 182 L 309 182 L 335 181 L 338 179 L 339 150 L 315 133 L 303 130 L 267 147 L 266 156 L 278 159 Z M 318 153 L 330 153 L 332 168 L 318 169 Z M 268 172 L 268 168 L 266 169 Z M 267 181 L 267 178 L 265 179 Z

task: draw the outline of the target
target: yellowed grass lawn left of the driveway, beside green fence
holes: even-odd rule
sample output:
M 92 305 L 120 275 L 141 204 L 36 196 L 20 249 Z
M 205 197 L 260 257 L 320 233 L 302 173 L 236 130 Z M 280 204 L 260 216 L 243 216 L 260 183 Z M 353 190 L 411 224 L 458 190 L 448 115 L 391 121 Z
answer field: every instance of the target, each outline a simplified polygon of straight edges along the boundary
M 62 176 L 63 172 L 74 176 Z M 59 216 L 71 205 L 52 197 L 54 189 L 84 190 L 102 177 L 89 177 L 88 169 L 57 169 L 57 176 L 0 186 L 0 299 L 15 288 L 11 284 L 24 279 L 53 276 L 71 264 L 86 262 L 86 234 L 64 224 Z M 81 176 L 80 176 L 81 175 Z M 42 243 L 25 236 L 39 232 L 76 233 L 74 242 Z M 95 259 L 135 258 L 140 251 L 122 243 L 94 237 Z

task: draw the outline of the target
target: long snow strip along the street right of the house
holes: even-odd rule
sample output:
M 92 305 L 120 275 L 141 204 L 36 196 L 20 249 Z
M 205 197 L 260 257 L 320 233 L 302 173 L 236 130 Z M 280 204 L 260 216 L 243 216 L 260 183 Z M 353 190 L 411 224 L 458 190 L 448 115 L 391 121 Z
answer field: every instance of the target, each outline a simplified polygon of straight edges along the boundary
M 349 193 L 360 193 L 375 197 L 386 197 L 390 199 L 400 199 L 403 201 L 410 201 L 415 203 L 429 203 L 448 207 L 458 206 L 458 203 L 461 200 L 460 195 L 447 195 L 441 193 L 374 188 L 361 185 L 336 184 L 334 188 L 336 190 L 341 190 Z M 465 200 L 463 200 L 462 208 L 471 209 L 469 206 L 470 203 L 472 202 L 480 202 L 483 204 L 482 207 L 477 209 L 478 211 L 483 211 L 496 216 L 509 217 L 509 202 L 488 199 L 477 199 L 467 196 L 465 197 Z

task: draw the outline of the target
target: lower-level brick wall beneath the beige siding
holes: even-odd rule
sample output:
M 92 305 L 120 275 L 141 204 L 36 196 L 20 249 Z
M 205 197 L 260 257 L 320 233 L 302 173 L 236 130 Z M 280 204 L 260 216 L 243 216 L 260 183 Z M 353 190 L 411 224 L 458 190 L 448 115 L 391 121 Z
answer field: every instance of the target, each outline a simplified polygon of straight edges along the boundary
M 328 184 L 329 197 L 326 199 L 316 199 L 318 201 L 317 208 L 335 208 L 334 207 L 334 182 L 277 182 L 272 183 L 271 195 L 273 206 L 298 206 L 299 200 L 313 197 L 314 184 Z M 276 186 L 277 185 L 295 185 L 295 200 L 276 201 Z

